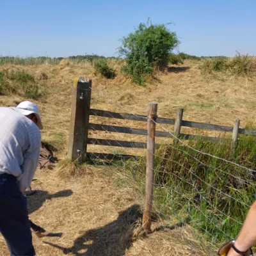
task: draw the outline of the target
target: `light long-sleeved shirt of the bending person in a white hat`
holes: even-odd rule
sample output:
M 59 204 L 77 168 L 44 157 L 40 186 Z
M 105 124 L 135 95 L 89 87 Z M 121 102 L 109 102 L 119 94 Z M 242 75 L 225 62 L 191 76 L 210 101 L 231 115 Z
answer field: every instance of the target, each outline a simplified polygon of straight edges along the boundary
M 17 177 L 19 188 L 29 188 L 40 154 L 41 132 L 17 108 L 0 108 L 0 174 Z

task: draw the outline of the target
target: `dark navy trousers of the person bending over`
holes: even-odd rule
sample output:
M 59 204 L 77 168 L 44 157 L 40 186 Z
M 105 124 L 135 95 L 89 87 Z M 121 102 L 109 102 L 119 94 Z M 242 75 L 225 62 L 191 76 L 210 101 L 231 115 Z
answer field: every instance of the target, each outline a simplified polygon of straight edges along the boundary
M 20 192 L 17 180 L 0 174 L 0 232 L 11 256 L 34 256 L 27 199 Z

